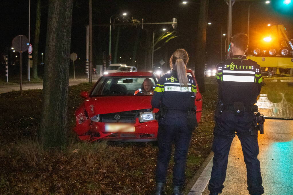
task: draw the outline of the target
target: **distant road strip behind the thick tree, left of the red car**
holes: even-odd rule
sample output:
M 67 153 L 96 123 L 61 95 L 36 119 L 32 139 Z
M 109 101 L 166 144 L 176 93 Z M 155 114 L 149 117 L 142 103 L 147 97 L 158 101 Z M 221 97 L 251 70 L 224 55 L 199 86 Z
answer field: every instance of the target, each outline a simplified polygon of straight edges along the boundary
M 81 81 L 69 81 L 69 86 L 71 85 L 78 85 L 79 83 L 87 82 L 86 80 Z M 96 82 L 96 80 L 93 80 L 93 83 Z M 28 89 L 42 89 L 43 84 L 42 83 L 25 83 L 22 85 L 22 90 L 28 90 Z M 19 91 L 20 85 L 1 85 L 0 86 L 0 93 L 7 93 L 10 91 Z

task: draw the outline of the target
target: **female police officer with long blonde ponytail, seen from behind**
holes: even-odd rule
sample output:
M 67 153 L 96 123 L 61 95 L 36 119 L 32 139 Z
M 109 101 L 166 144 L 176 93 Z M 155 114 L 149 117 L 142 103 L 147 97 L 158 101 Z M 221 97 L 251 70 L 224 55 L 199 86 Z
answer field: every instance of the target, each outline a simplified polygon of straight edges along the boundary
M 170 58 L 173 69 L 159 79 L 151 105 L 160 108 L 158 144 L 159 154 L 156 165 L 156 195 L 165 194 L 168 164 L 172 144 L 175 142 L 173 168 L 173 194 L 182 194 L 185 182 L 185 164 L 193 128 L 187 124 L 187 112 L 194 109 L 196 83 L 186 74 L 188 53 L 178 49 Z M 162 114 L 163 113 L 163 114 Z

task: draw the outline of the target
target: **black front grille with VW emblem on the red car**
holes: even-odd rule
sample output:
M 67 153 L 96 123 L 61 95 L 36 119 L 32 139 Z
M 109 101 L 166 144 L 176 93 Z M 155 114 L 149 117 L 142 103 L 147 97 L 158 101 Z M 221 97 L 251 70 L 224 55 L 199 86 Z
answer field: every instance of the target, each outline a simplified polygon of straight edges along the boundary
M 116 120 L 114 116 L 116 114 L 120 115 L 120 119 Z M 101 114 L 101 122 L 103 123 L 135 123 L 135 119 L 137 117 L 137 114 L 132 113 L 111 113 L 111 114 Z

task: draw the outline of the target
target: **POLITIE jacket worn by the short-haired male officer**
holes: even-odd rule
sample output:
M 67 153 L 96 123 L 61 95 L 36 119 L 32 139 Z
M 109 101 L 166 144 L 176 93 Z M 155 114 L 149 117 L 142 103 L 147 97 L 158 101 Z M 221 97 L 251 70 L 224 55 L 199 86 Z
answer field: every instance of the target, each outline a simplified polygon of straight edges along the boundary
M 253 105 L 260 94 L 263 78 L 260 65 L 246 56 L 234 55 L 216 67 L 219 100 L 224 104 L 243 102 Z M 241 58 L 241 59 L 240 59 Z

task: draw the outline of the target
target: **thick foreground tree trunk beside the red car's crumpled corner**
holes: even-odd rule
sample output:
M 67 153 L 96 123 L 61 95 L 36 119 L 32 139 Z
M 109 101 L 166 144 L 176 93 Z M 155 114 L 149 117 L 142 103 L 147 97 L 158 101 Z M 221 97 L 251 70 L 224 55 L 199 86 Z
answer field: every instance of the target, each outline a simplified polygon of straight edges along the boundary
M 67 101 L 73 0 L 50 0 L 38 140 L 43 149 L 67 144 Z

